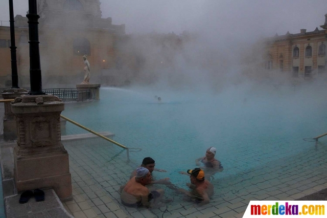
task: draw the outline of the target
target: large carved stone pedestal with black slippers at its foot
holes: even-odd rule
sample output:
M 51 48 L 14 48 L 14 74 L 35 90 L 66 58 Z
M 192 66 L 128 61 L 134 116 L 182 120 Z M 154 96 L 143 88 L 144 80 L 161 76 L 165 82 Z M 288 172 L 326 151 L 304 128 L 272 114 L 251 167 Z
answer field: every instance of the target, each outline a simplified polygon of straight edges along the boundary
M 64 103 L 53 95 L 22 95 L 11 108 L 18 134 L 14 148 L 17 191 L 53 188 L 60 200 L 72 199 L 68 154 L 60 135 Z

